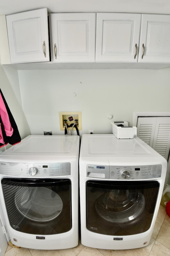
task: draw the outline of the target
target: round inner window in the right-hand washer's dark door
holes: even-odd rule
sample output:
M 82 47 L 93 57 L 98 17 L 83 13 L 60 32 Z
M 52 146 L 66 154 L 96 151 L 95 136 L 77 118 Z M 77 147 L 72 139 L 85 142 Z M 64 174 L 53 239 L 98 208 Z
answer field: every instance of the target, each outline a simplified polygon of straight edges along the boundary
M 110 222 L 124 223 L 137 218 L 145 208 L 145 197 L 136 190 L 112 189 L 96 200 L 99 216 Z

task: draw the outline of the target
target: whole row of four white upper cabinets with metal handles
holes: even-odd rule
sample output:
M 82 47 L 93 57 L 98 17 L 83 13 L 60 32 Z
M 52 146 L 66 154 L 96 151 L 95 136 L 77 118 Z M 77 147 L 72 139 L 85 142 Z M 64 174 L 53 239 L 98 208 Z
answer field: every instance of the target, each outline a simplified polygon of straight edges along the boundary
M 63 65 L 169 66 L 170 15 L 53 13 L 49 21 L 50 54 L 47 8 L 6 16 L 12 64 L 49 62 L 51 55 Z

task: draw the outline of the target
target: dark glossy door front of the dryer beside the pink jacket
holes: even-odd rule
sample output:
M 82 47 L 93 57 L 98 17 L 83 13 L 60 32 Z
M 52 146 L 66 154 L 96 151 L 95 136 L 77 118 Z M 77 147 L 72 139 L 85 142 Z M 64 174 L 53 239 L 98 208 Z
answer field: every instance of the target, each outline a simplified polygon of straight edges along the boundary
M 13 229 L 46 235 L 64 233 L 71 229 L 69 179 L 4 178 L 2 189 Z

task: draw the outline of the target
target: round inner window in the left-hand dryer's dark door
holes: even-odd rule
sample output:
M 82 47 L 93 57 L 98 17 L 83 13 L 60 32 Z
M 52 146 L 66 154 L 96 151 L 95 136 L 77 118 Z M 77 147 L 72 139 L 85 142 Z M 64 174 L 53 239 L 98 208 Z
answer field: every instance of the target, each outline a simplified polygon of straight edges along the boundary
M 20 187 L 15 205 L 24 217 L 37 222 L 52 221 L 63 208 L 61 197 L 48 187 Z

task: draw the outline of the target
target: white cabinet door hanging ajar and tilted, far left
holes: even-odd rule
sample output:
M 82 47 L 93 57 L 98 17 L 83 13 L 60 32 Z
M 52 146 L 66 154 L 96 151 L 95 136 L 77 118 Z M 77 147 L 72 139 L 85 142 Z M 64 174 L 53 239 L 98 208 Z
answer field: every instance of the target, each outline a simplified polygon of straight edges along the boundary
M 49 61 L 47 8 L 6 16 L 11 63 Z

